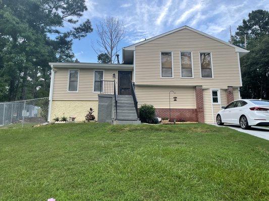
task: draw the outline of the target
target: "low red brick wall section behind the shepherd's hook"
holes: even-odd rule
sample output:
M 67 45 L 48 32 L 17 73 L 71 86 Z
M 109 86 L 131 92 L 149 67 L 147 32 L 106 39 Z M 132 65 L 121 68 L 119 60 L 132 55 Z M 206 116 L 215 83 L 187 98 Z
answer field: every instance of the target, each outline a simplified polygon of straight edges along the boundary
M 170 118 L 169 108 L 156 108 L 156 117 Z M 184 119 L 186 122 L 197 122 L 196 109 L 171 109 L 171 121 Z

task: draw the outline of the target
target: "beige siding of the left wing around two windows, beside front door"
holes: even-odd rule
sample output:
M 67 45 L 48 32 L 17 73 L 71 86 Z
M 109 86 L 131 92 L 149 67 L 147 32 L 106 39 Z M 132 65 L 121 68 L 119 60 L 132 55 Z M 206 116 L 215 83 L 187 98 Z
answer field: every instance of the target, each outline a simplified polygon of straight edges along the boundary
M 53 84 L 53 100 L 98 100 L 98 92 L 93 92 L 94 69 L 79 69 L 78 92 L 68 92 L 68 70 L 56 68 Z M 98 69 L 100 70 L 100 69 Z M 113 81 L 113 73 L 118 79 L 118 70 L 104 69 L 104 80 Z

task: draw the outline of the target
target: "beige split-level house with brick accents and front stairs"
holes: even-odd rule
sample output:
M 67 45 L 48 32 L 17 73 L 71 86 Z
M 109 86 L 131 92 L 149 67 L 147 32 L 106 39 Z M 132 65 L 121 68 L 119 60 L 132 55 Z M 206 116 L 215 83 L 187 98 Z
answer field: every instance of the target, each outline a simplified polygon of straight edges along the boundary
M 239 58 L 248 51 L 188 26 L 122 49 L 122 64 L 49 63 L 49 121 L 55 115 L 84 120 L 91 107 L 100 122 L 137 121 L 137 108 L 157 117 L 215 122 L 222 106 L 240 98 Z M 132 84 L 131 84 L 132 83 Z

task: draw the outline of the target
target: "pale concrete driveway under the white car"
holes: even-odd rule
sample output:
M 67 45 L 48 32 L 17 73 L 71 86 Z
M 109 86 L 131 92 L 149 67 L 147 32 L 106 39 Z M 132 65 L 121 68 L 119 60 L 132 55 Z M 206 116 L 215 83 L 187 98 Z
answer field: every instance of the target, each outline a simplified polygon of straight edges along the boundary
M 213 124 L 214 126 L 218 126 L 217 124 Z M 263 128 L 259 128 L 259 127 L 251 127 L 249 130 L 243 130 L 240 128 L 240 126 L 236 126 L 236 125 L 228 125 L 225 124 L 224 126 L 229 127 L 231 129 L 240 131 L 242 133 L 247 133 L 249 135 L 253 135 L 256 136 L 258 138 L 263 138 L 265 140 L 269 140 L 269 127 L 263 129 Z

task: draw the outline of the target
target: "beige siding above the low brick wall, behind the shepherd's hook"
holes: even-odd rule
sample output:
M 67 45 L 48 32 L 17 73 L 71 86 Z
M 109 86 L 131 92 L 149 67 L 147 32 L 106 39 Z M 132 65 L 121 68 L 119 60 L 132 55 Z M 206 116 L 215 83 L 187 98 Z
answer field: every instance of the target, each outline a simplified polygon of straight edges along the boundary
M 153 105 L 155 108 L 169 108 L 169 92 L 171 92 L 171 108 L 195 109 L 195 89 L 194 87 L 156 87 L 156 86 L 136 86 L 136 97 L 138 105 Z M 173 97 L 177 96 L 177 101 Z

